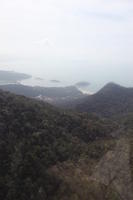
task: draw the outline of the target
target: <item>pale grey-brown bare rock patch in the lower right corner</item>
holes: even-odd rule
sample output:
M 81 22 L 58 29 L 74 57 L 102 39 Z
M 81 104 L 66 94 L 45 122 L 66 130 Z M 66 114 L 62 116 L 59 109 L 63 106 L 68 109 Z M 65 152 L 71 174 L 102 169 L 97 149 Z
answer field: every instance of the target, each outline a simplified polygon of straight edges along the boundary
M 114 150 L 108 151 L 96 166 L 91 180 L 116 191 L 119 199 L 133 200 L 133 187 L 130 170 L 130 145 L 128 139 L 117 141 Z M 108 193 L 107 193 L 108 195 Z

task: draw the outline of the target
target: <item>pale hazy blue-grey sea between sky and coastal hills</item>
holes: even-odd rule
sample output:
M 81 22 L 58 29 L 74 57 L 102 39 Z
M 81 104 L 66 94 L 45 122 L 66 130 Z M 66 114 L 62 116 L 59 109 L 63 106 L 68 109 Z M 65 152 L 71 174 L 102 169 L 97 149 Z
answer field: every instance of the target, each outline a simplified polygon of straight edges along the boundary
M 48 67 L 45 63 L 44 65 L 40 64 L 40 66 L 37 66 L 37 63 L 32 63 L 32 61 L 30 63 L 31 66 L 28 64 L 28 67 L 25 66 L 26 63 L 23 67 L 20 67 L 21 64 L 18 63 L 17 66 L 5 66 L 0 69 L 13 70 L 32 75 L 31 79 L 21 82 L 22 84 L 30 86 L 60 87 L 75 85 L 80 81 L 87 81 L 90 83 L 90 86 L 87 88 L 90 92 L 99 90 L 108 82 L 116 82 L 123 86 L 133 87 L 131 67 L 88 67 L 87 65 L 89 64 L 87 62 L 83 61 L 82 63 L 83 64 L 76 61 L 71 63 L 64 62 L 64 65 L 68 64 L 66 71 L 64 71 L 63 62 L 59 62 L 58 66 L 51 64 L 51 66 Z M 127 68 L 129 69 L 128 71 Z M 55 82 L 52 80 L 55 80 Z

